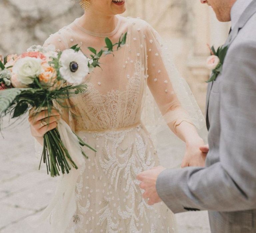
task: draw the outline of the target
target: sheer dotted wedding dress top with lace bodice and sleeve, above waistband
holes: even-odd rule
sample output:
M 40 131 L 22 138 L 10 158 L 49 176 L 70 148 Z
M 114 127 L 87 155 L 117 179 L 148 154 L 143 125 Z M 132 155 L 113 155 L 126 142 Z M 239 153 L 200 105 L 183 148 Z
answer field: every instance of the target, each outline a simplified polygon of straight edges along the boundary
M 127 32 L 126 45 L 114 52 L 114 56 L 103 57 L 102 70 L 97 68 L 87 76 L 87 91 L 69 99 L 75 130 L 100 131 L 139 123 L 147 86 L 161 113 L 172 113 L 167 115 L 168 122 L 175 128 L 188 117 L 162 60 L 158 34 L 143 20 L 117 17 L 117 27 L 111 33 L 91 33 L 79 25 L 78 18 L 51 35 L 44 44 L 54 44 L 57 50 L 78 44 L 85 54 L 90 54 L 87 47 L 102 48 L 105 36 L 115 43 Z

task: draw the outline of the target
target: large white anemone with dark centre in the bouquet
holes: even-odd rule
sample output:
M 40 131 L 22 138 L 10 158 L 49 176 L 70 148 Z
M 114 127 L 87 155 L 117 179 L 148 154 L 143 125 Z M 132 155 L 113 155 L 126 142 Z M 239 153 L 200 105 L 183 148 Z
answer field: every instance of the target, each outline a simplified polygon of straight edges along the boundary
M 89 73 L 88 59 L 81 52 L 73 49 L 66 49 L 60 57 L 60 74 L 63 79 L 71 84 L 80 84 Z

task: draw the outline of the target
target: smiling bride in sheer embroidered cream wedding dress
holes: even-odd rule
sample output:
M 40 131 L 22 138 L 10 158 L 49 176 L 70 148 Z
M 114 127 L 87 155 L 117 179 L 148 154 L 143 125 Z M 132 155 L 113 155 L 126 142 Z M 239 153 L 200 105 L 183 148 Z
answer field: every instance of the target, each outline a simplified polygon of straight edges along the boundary
M 82 2 L 84 15 L 51 35 L 45 47 L 53 44 L 64 50 L 78 44 L 89 54 L 87 47 L 100 49 L 105 37 L 117 42 L 125 32 L 127 42 L 114 56 L 101 59 L 102 70 L 95 69 L 87 77 L 86 92 L 70 97 L 68 111 L 53 110 L 49 119 L 45 111 L 30 115 L 32 135 L 40 143 L 62 117 L 97 149 L 96 153 L 85 149 L 89 159 L 73 180 L 76 211 L 70 213 L 63 206 L 63 218 L 51 215 L 50 232 L 56 232 L 56 224 L 57 232 L 176 232 L 174 214 L 163 203 L 149 206 L 136 180 L 139 172 L 159 164 L 145 127 L 146 119 L 157 112 L 150 95 L 166 125 L 186 142 L 182 166 L 204 165 L 199 152 L 204 141 L 194 126 L 202 123 L 203 116 L 187 84 L 168 61 L 157 32 L 143 20 L 119 16 L 126 9 L 125 0 Z M 42 120 L 49 124 L 44 126 Z

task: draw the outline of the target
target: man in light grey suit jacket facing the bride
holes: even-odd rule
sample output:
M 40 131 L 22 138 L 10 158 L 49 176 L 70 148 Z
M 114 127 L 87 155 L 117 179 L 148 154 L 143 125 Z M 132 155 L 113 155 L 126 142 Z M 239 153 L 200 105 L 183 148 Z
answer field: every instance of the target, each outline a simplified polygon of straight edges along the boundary
M 256 0 L 201 0 L 230 21 L 223 69 L 209 84 L 206 167 L 138 175 L 148 204 L 174 212 L 208 210 L 213 233 L 256 232 Z

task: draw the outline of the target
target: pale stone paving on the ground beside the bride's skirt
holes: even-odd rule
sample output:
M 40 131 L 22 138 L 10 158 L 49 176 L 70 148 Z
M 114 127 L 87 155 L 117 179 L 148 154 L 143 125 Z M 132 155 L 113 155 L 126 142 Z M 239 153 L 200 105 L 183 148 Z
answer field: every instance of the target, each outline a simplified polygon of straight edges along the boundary
M 4 125 L 8 119 L 4 119 Z M 54 193 L 56 180 L 38 171 L 29 125 L 14 123 L 0 135 L 0 232 L 32 233 L 24 219 L 42 211 Z M 45 165 L 45 164 L 43 164 Z M 210 233 L 206 211 L 176 214 L 179 233 Z M 95 232 L 97 233 L 97 232 Z

